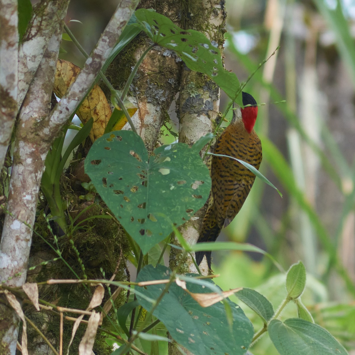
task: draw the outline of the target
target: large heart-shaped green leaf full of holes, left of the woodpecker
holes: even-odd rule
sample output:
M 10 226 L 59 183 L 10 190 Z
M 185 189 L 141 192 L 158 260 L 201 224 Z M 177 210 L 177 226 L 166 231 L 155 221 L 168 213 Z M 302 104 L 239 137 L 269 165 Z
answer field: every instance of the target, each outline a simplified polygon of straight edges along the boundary
M 103 135 L 85 159 L 85 171 L 127 233 L 146 254 L 206 202 L 211 178 L 185 143 L 162 146 L 148 158 L 132 131 Z

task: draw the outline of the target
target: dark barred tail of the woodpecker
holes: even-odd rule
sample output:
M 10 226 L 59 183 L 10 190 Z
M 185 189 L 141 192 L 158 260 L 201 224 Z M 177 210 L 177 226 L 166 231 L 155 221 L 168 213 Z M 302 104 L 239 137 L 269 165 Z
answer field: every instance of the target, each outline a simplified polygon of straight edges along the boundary
M 214 242 L 221 229 L 222 228 L 218 226 L 215 213 L 211 211 L 211 208 L 208 208 L 206 215 L 203 218 L 202 229 L 197 243 Z M 208 267 L 211 269 L 211 251 L 197 251 L 195 253 L 196 263 L 197 265 L 200 265 L 204 255 L 206 255 Z

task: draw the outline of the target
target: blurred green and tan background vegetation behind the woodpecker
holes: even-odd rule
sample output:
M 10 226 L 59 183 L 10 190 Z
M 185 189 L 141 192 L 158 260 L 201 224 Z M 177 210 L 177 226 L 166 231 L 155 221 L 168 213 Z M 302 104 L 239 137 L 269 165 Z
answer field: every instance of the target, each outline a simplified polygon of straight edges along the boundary
M 71 1 L 70 28 L 90 51 L 115 1 Z M 261 172 L 281 198 L 258 179 L 244 207 L 219 240 L 250 242 L 284 267 L 307 269 L 303 303 L 316 323 L 355 354 L 355 2 L 351 0 L 226 0 L 224 61 L 240 81 L 274 55 L 245 87 L 257 102 Z M 64 44 L 62 58 L 83 58 Z M 286 102 L 280 102 L 286 100 Z M 220 110 L 227 105 L 224 94 Z M 171 125 L 175 106 L 171 107 Z M 175 128 L 174 128 L 175 125 Z M 166 131 L 163 142 L 176 138 Z M 212 268 L 223 288 L 256 288 L 278 306 L 283 275 L 261 255 L 214 252 Z M 280 287 L 278 288 L 278 285 Z M 296 307 L 286 311 L 296 316 Z M 248 316 L 254 321 L 251 313 Z M 263 338 L 256 354 L 276 354 Z

